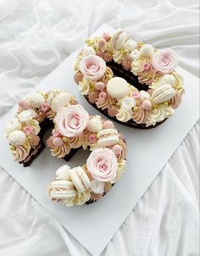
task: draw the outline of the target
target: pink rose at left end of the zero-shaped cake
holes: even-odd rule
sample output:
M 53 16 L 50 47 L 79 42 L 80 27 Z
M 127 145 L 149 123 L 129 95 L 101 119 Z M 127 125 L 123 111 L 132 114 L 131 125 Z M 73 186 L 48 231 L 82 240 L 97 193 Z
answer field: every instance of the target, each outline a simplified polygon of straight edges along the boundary
M 97 81 L 103 77 L 106 63 L 97 55 L 88 55 L 81 59 L 79 69 L 86 78 Z

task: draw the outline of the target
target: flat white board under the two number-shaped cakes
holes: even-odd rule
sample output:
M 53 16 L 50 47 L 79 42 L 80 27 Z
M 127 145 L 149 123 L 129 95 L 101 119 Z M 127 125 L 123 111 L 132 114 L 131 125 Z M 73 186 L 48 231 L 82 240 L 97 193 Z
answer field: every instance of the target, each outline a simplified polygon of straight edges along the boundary
M 112 32 L 114 29 L 104 25 L 96 34 L 101 35 L 104 31 Z M 44 81 L 36 86 L 34 91 L 48 91 L 53 88 L 67 89 L 75 95 L 79 103 L 90 114 L 99 114 L 81 96 L 73 81 L 72 66 L 76 54 L 71 54 Z M 103 248 L 106 247 L 119 226 L 122 225 L 158 172 L 164 167 L 164 164 L 167 163 L 199 118 L 199 80 L 186 70 L 179 68 L 177 71 L 184 77 L 186 95 L 183 97 L 181 107 L 175 111 L 169 120 L 165 121 L 163 125 L 147 131 L 134 130 L 116 124 L 127 142 L 127 168 L 121 180 L 98 203 L 67 209 L 60 203 L 49 201 L 46 186 L 49 181 L 53 180 L 55 170 L 65 164 L 64 160 L 53 158 L 49 149 L 46 148 L 34 160 L 31 167 L 24 168 L 22 165 L 14 163 L 8 142 L 3 137 L 3 129 L 6 122 L 13 118 L 16 106 L 0 120 L 0 164 L 95 256 L 103 251 Z M 80 156 L 82 156 L 81 162 Z M 76 153 L 69 165 L 75 166 L 86 162 L 86 156 L 88 153 L 83 153 L 83 151 Z

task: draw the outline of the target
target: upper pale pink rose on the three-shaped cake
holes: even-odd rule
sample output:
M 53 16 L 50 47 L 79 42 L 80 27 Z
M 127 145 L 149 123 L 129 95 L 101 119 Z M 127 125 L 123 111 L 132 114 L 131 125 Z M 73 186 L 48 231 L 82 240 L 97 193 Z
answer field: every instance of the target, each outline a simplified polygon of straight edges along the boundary
M 89 114 L 79 104 L 58 109 L 55 123 L 58 131 L 67 137 L 78 136 L 86 128 Z

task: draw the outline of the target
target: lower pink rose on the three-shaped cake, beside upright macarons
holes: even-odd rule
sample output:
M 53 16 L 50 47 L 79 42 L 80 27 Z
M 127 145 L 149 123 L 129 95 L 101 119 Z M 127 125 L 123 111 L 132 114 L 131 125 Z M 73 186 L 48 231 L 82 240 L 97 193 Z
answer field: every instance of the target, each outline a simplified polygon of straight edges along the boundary
M 113 150 L 108 147 L 92 151 L 86 161 L 86 166 L 97 181 L 114 181 L 117 175 L 117 158 Z

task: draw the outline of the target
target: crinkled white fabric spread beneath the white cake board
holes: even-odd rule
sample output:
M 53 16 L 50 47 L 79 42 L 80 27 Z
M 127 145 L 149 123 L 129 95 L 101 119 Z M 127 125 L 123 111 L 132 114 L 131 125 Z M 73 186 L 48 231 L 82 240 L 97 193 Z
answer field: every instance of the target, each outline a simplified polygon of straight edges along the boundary
M 197 75 L 198 8 L 194 0 L 0 0 L 0 116 L 103 23 L 172 47 L 181 66 Z M 103 256 L 199 254 L 198 134 L 197 123 Z M 0 255 L 90 253 L 0 168 Z

